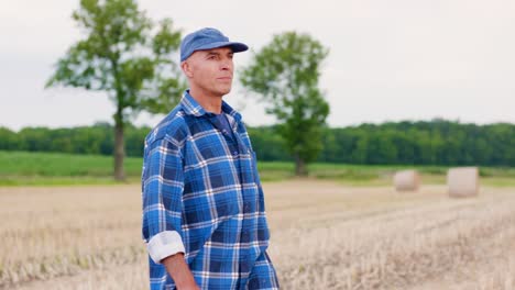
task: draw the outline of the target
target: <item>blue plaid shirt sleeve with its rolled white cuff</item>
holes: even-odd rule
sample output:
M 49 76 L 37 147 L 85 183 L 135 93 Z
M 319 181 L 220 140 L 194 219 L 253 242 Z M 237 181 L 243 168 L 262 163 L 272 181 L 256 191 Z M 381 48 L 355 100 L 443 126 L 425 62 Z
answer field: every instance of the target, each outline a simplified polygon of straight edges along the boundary
M 143 238 L 152 260 L 185 253 L 182 234 L 183 158 L 177 143 L 154 141 L 145 148 L 142 175 Z

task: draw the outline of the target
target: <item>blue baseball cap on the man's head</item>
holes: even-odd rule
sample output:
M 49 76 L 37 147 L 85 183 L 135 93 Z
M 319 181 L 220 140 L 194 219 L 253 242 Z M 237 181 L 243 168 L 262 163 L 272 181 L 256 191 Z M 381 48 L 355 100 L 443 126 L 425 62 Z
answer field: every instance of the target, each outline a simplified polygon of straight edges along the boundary
M 241 53 L 249 49 L 249 46 L 239 42 L 230 42 L 229 37 L 220 31 L 206 27 L 193 32 L 184 37 L 180 43 L 180 62 L 186 60 L 197 51 L 212 49 L 219 47 L 230 47 L 233 53 Z

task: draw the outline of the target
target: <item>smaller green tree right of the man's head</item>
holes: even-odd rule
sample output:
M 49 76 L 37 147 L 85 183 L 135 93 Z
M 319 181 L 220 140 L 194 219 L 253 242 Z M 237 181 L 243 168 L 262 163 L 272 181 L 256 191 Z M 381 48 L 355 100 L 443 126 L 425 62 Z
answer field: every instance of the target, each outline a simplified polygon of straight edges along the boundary
M 321 150 L 321 133 L 329 105 L 318 88 L 320 64 L 329 51 L 308 34 L 286 32 L 253 55 L 241 82 L 267 104 L 280 122 L 285 146 L 295 159 L 295 172 L 307 175 L 306 165 Z

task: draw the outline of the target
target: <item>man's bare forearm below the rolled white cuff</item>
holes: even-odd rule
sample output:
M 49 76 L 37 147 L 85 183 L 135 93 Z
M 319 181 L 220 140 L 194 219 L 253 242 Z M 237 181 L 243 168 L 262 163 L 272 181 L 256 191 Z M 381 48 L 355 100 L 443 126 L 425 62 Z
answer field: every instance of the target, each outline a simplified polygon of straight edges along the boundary
M 169 276 L 174 279 L 178 290 L 200 290 L 195 282 L 194 276 L 188 265 L 184 260 L 184 254 L 177 253 L 161 260 L 166 267 Z

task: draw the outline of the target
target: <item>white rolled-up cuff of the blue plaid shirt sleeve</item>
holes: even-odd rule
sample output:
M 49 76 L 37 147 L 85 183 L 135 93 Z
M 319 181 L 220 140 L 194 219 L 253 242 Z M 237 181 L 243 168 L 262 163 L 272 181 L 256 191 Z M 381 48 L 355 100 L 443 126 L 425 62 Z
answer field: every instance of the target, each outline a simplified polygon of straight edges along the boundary
M 146 244 L 149 255 L 155 264 L 161 264 L 161 260 L 175 255 L 185 253 L 183 239 L 175 231 L 165 231 L 154 235 Z

